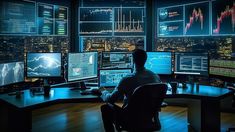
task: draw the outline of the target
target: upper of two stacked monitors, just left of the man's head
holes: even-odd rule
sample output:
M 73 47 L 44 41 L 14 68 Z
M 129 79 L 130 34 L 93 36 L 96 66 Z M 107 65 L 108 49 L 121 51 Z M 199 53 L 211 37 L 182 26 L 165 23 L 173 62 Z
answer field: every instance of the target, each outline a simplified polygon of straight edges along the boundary
M 102 52 L 102 68 L 133 68 L 131 52 Z

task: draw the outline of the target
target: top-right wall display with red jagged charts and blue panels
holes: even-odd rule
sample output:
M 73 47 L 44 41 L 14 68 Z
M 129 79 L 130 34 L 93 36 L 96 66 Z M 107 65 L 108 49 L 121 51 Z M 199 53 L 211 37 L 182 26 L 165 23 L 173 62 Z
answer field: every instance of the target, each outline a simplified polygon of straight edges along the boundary
M 235 35 L 235 1 L 212 0 L 158 8 L 157 35 Z

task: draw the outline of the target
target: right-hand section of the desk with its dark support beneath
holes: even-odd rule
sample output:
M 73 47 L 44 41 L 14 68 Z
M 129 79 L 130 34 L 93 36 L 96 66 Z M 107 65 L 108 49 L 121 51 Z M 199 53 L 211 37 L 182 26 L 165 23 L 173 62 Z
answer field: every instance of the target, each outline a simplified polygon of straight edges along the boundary
M 188 105 L 188 123 L 195 131 L 220 132 L 220 100 L 232 96 L 233 90 L 214 86 L 187 85 L 177 88 L 172 94 L 167 91 L 166 98 L 184 98 Z

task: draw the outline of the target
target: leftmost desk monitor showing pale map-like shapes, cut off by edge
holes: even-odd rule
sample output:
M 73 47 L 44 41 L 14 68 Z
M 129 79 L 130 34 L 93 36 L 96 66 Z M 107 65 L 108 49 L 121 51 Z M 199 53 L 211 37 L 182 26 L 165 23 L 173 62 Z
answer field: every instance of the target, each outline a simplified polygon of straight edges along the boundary
M 0 86 L 6 86 L 23 81 L 23 61 L 0 64 Z

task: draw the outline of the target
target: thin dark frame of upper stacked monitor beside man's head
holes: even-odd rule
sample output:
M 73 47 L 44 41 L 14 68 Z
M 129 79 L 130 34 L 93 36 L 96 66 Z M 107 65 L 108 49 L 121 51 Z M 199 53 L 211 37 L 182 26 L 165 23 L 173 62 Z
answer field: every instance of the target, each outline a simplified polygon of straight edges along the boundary
M 101 58 L 100 58 L 100 67 L 101 67 L 101 69 L 123 69 L 123 68 L 103 67 L 103 57 L 104 57 L 104 54 L 106 54 L 106 53 L 109 53 L 109 54 L 116 54 L 116 53 L 117 54 L 131 54 L 132 55 L 133 52 L 131 52 L 131 51 L 102 51 L 101 52 Z M 132 55 L 132 68 L 131 69 L 134 69 L 133 55 Z

